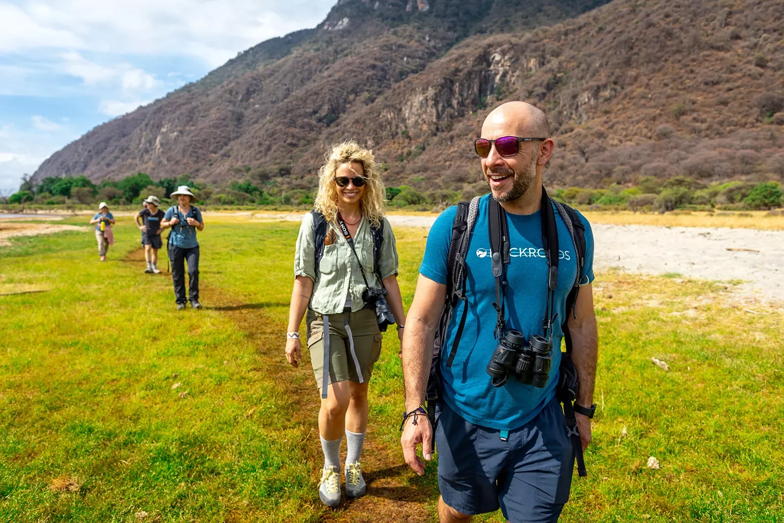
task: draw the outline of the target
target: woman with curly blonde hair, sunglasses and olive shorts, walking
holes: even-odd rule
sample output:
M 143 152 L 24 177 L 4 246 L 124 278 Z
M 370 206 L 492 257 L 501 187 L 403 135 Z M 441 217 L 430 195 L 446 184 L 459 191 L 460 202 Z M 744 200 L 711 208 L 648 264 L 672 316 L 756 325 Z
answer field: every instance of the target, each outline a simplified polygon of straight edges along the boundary
M 365 494 L 360 456 L 368 427 L 368 382 L 381 354 L 380 331 L 394 322 L 401 337 L 405 313 L 394 234 L 384 218 L 386 191 L 372 152 L 346 142 L 325 158 L 314 210 L 305 215 L 296 242 L 285 354 L 299 366 L 299 324 L 307 311 L 307 346 L 321 390 L 318 431 L 325 463 L 318 494 L 335 507 L 343 434 L 346 495 Z

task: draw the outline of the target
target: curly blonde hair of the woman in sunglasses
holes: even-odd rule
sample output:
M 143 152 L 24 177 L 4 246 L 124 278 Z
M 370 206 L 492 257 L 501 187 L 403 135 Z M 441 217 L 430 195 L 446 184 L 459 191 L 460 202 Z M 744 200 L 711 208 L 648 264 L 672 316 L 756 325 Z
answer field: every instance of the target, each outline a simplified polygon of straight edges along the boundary
M 318 169 L 318 194 L 314 209 L 321 212 L 328 222 L 336 222 L 338 215 L 338 191 L 335 173 L 344 163 L 357 162 L 362 165 L 363 176 L 368 179 L 365 192 L 359 202 L 362 215 L 373 227 L 379 227 L 384 217 L 384 204 L 387 189 L 379 172 L 379 165 L 373 158 L 373 151 L 359 147 L 354 140 L 337 143 L 324 155 L 325 164 Z

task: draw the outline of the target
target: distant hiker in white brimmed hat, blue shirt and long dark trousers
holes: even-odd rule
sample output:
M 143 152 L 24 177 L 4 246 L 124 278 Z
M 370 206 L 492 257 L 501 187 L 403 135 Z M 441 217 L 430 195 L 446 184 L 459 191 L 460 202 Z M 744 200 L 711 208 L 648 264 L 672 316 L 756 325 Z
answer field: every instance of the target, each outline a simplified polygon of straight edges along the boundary
M 171 227 L 169 234 L 169 260 L 172 262 L 172 281 L 174 281 L 174 297 L 177 311 L 185 308 L 185 265 L 188 264 L 188 300 L 191 307 L 201 309 L 198 302 L 198 240 L 196 231 L 204 230 L 201 211 L 191 205 L 196 202 L 196 195 L 187 185 L 180 185 L 170 194 L 179 205 L 172 205 L 163 216 L 162 228 Z M 150 205 L 149 202 L 147 205 Z

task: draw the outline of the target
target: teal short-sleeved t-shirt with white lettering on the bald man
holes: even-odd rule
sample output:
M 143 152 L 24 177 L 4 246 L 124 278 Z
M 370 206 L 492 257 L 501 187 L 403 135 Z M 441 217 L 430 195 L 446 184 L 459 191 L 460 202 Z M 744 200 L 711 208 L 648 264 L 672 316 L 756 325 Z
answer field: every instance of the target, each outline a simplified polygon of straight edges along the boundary
M 490 235 L 488 233 L 488 201 L 481 198 L 474 233 L 466 256 L 467 301 L 459 303 L 452 312 L 445 346 L 441 348 L 442 395 L 448 405 L 463 419 L 475 425 L 496 430 L 514 430 L 528 423 L 555 395 L 558 382 L 558 365 L 561 351 L 554 350 L 550 365 L 550 380 L 544 388 L 523 385 L 510 377 L 503 387 L 493 387 L 487 373 L 497 341 L 494 336 L 498 316 L 492 303 L 495 301 L 495 278 L 491 272 Z M 427 236 L 419 273 L 437 283 L 446 284 L 447 256 L 452 238 L 452 223 L 456 207 L 450 207 L 438 216 Z M 558 227 L 558 285 L 554 296 L 554 311 L 558 316 L 553 331 L 554 347 L 561 347 L 563 332 L 561 321 L 566 316 L 566 297 L 572 290 L 577 276 L 577 262 L 572 236 L 561 215 L 554 210 Z M 530 215 L 507 213 L 510 235 L 510 263 L 506 266 L 506 329 L 514 329 L 531 336 L 543 334 L 547 296 L 547 260 L 542 241 L 542 213 Z M 586 254 L 581 275 L 581 285 L 593 281 L 593 234 L 584 216 L 580 219 L 586 227 Z M 467 303 L 465 305 L 464 303 Z M 466 326 L 452 362 L 446 366 L 447 355 L 452 350 L 457 325 L 468 307 Z

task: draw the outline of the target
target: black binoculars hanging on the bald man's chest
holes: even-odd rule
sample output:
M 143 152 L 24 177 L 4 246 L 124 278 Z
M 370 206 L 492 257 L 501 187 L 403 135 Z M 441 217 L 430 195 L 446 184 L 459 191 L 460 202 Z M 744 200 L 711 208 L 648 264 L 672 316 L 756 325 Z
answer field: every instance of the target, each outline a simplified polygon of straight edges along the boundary
M 545 387 L 550 377 L 552 349 L 552 344 L 542 336 L 532 336 L 531 343 L 525 343 L 521 332 L 506 332 L 488 363 L 493 387 L 506 385 L 510 375 L 524 385 Z

